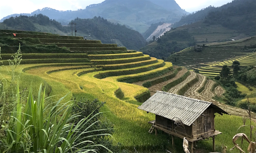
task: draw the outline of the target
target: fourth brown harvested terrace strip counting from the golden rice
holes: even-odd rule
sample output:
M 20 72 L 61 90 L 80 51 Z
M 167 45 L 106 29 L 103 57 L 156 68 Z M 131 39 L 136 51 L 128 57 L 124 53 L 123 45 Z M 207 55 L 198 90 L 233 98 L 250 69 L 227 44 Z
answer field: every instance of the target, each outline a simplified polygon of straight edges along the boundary
M 203 84 L 206 81 L 206 76 L 201 75 L 201 74 L 197 74 L 197 76 L 198 76 L 199 80 L 184 93 L 184 96 L 195 98 L 195 99 L 200 99 L 203 97 L 197 91 L 201 87 L 203 87 Z

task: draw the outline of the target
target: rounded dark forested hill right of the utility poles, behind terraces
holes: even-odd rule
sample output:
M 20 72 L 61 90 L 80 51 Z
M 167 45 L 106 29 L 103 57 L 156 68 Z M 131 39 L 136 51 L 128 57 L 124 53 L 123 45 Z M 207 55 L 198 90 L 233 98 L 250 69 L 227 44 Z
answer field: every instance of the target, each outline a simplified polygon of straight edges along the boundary
M 144 47 L 146 41 L 143 36 L 132 29 L 127 28 L 125 25 L 114 24 L 107 21 L 102 17 L 94 17 L 92 19 L 79 19 L 72 20 L 78 23 L 78 31 L 83 31 L 93 35 L 101 40 L 102 43 L 115 44 L 116 39 L 119 40 L 127 49 L 139 50 Z

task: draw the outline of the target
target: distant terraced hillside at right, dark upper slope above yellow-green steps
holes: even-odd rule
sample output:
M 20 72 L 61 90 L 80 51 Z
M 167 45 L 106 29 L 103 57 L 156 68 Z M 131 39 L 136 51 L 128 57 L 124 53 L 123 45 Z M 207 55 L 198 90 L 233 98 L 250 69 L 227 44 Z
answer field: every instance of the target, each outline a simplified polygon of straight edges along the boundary
M 254 36 L 238 41 L 213 43 L 203 47 L 201 52 L 188 47 L 173 54 L 168 61 L 188 69 L 198 70 L 207 76 L 216 76 L 219 75 L 223 65 L 231 66 L 235 60 L 239 61 L 241 66 L 255 65 L 255 41 Z

